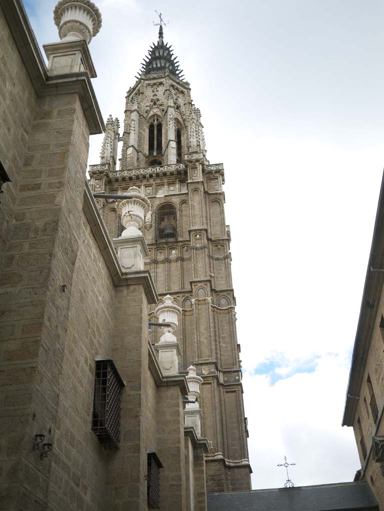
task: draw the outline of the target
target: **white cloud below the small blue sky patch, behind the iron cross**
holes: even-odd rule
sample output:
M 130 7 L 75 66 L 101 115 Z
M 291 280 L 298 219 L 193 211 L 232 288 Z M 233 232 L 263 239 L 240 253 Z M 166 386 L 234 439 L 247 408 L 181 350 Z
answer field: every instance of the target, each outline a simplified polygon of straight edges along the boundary
M 360 467 L 353 432 L 341 427 L 348 361 L 325 356 L 313 373 L 270 385 L 266 376 L 244 373 L 254 489 L 283 486 L 289 467 L 296 486 L 351 481 Z

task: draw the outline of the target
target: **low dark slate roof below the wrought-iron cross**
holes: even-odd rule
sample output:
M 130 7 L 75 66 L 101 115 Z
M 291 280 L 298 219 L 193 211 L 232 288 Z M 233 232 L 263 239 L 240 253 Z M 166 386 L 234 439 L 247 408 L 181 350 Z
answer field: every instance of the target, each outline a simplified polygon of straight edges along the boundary
M 210 493 L 208 511 L 352 511 L 377 509 L 366 481 L 249 492 Z

